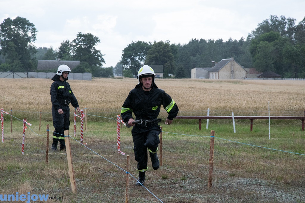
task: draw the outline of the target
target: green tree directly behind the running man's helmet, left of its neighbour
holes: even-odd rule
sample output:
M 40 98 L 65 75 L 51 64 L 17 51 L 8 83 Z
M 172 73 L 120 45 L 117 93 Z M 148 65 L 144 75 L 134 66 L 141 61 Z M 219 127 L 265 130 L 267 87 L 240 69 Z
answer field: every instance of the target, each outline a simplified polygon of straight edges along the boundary
M 133 75 L 137 75 L 138 70 L 144 64 L 148 50 L 151 44 L 137 41 L 128 44 L 123 50 L 121 64 L 124 69 L 130 69 Z

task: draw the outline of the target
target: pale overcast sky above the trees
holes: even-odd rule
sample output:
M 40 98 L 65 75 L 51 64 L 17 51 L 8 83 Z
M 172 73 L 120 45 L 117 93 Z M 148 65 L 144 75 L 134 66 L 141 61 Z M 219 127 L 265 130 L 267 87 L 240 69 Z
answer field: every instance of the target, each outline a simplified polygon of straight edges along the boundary
M 101 40 L 104 67 L 115 66 L 128 44 L 196 39 L 239 40 L 270 15 L 305 17 L 305 0 L 0 0 L 1 23 L 26 18 L 38 30 L 35 46 L 56 49 L 77 33 Z

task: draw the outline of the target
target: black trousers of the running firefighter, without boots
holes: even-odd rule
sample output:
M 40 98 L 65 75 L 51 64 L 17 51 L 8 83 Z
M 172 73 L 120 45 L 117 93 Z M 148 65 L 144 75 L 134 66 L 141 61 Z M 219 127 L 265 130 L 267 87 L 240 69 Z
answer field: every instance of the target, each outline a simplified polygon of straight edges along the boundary
M 156 125 L 151 128 L 141 128 L 135 125 L 132 130 L 132 139 L 134 142 L 135 160 L 138 162 L 138 170 L 147 170 L 147 149 L 156 152 L 160 143 L 159 134 L 160 126 Z

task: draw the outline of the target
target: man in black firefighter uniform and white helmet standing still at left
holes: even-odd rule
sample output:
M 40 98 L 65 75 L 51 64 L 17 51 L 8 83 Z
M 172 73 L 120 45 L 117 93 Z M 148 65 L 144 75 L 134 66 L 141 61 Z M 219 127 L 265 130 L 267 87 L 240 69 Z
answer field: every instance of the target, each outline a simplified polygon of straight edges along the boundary
M 75 98 L 68 80 L 70 68 L 67 65 L 60 65 L 53 76 L 54 81 L 51 85 L 51 102 L 52 117 L 55 131 L 53 133 L 52 150 L 57 151 L 57 143 L 59 141 L 59 150 L 66 150 L 64 131 L 69 130 L 70 126 L 70 108 L 69 103 L 80 112 L 77 99 Z

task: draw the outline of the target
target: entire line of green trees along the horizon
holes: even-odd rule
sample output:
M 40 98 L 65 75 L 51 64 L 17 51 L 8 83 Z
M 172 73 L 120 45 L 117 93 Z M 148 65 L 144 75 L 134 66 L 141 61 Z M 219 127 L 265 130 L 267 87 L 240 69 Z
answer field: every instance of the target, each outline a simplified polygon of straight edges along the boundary
M 38 30 L 27 19 L 5 19 L 0 25 L 0 71 L 35 71 L 37 61 L 78 60 L 73 72 L 91 72 L 93 77 L 113 74 L 134 77 L 143 64 L 163 65 L 163 77 L 190 78 L 191 69 L 212 67 L 212 61 L 234 57 L 244 68 L 276 72 L 283 78 L 305 78 L 305 17 L 270 16 L 259 23 L 246 39 L 191 39 L 188 44 L 131 42 L 122 51 L 115 67 L 103 67 L 105 60 L 95 46 L 99 38 L 78 33 L 58 49 L 34 46 Z M 56 70 L 54 70 L 56 72 Z

